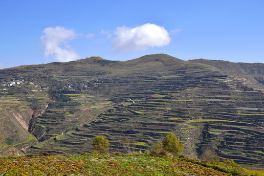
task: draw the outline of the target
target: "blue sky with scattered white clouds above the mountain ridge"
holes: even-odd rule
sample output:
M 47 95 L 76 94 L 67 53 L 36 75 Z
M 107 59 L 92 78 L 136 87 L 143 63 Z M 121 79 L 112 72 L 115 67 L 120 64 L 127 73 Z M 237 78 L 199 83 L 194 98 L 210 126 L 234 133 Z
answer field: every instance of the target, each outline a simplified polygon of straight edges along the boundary
M 0 0 L 0 68 L 156 53 L 264 63 L 264 0 Z

